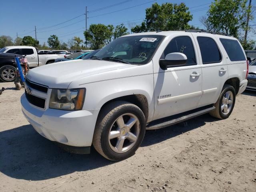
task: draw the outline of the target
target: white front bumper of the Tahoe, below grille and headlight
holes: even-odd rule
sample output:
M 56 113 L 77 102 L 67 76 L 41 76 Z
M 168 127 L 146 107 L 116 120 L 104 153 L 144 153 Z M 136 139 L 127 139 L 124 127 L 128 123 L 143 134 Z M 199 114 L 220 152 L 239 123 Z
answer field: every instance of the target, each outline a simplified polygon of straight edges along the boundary
M 20 98 L 22 112 L 34 129 L 45 138 L 68 146 L 91 146 L 100 109 L 66 111 L 37 108 Z

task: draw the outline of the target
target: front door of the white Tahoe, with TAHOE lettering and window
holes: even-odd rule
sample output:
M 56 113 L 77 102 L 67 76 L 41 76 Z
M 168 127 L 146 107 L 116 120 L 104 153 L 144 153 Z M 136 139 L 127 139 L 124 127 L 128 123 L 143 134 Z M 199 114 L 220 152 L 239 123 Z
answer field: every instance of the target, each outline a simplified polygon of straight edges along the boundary
M 164 59 L 169 53 L 181 52 L 188 58 L 186 65 L 154 71 L 153 120 L 195 109 L 202 96 L 202 70 L 195 42 L 190 33 L 184 34 L 170 40 L 161 58 Z

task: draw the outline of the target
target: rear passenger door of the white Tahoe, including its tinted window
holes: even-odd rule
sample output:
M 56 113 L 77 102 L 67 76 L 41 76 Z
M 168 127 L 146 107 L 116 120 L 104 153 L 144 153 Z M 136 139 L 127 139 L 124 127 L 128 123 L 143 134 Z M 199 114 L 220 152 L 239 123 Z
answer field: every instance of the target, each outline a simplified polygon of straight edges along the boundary
M 214 35 L 192 33 L 199 50 L 202 66 L 202 97 L 198 107 L 214 104 L 228 80 L 228 66 L 219 40 Z

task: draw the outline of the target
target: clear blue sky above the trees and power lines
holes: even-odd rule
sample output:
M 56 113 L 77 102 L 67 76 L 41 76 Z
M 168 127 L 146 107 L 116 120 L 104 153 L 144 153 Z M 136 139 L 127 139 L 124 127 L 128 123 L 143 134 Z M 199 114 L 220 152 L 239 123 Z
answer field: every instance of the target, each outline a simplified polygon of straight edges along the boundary
M 82 31 L 85 29 L 85 15 L 79 15 L 85 13 L 86 6 L 87 11 L 89 11 L 87 28 L 89 28 L 90 24 L 96 23 L 113 24 L 115 26 L 124 22 L 126 27 L 130 30 L 129 23 L 139 24 L 142 22 L 145 18 L 145 9 L 150 7 L 154 2 L 158 2 L 158 4 L 165 2 L 179 4 L 184 2 L 186 6 L 190 8 L 190 12 L 192 12 L 193 15 L 193 20 L 190 24 L 203 28 L 199 22 L 199 17 L 206 15 L 207 8 L 212 2 L 212 0 L 156 0 L 154 2 L 150 2 L 152 0 L 129 0 L 117 6 L 92 12 L 98 8 L 124 1 L 125 0 L 3 0 L 0 6 L 0 36 L 9 35 L 15 39 L 16 32 L 18 32 L 18 36 L 21 38 L 27 35 L 35 38 L 34 28 L 36 26 L 37 38 L 40 44 L 44 42 L 47 43 L 48 37 L 52 34 L 56 34 L 62 42 L 66 42 L 74 36 L 79 36 L 84 39 Z M 139 4 L 143 5 L 136 6 Z M 132 6 L 136 7 L 129 8 Z M 122 10 L 125 8 L 129 9 Z M 106 15 L 98 16 L 100 14 Z M 76 16 L 79 17 L 70 20 Z M 70 21 L 65 22 L 67 20 Z M 255 24 L 254 21 L 251 24 Z M 65 23 L 60 24 L 62 22 Z M 59 25 L 54 26 L 56 24 Z M 54 27 L 48 28 L 49 26 Z M 256 36 L 255 34 L 254 36 L 253 34 L 249 34 L 249 38 L 256 39 Z

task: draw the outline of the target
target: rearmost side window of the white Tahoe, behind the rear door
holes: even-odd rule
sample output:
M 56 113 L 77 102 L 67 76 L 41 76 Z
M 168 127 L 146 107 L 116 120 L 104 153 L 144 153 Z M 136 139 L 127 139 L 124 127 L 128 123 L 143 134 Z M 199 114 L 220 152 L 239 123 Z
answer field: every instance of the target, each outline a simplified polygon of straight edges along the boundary
M 230 61 L 245 61 L 244 52 L 237 40 L 220 38 Z

